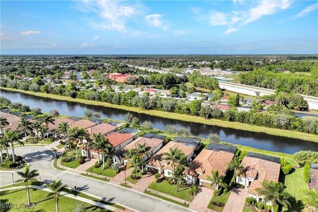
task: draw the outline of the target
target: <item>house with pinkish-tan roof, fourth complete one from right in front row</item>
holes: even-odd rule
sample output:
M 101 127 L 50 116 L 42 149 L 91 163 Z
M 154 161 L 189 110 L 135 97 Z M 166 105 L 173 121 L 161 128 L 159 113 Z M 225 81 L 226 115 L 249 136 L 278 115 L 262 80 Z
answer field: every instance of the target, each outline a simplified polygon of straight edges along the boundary
M 164 139 L 139 137 L 121 150 L 117 151 L 113 157 L 113 160 L 114 162 L 119 161 L 119 164 L 124 164 L 125 166 L 128 165 L 128 161 L 125 159 L 125 154 L 128 152 L 128 150 L 132 148 L 136 149 L 138 147 L 138 144 L 143 145 L 144 143 L 146 143 L 146 146 L 150 147 L 150 155 L 143 156 L 143 160 L 146 161 L 148 160 L 148 158 L 159 151 L 159 149 L 163 145 L 163 140 Z

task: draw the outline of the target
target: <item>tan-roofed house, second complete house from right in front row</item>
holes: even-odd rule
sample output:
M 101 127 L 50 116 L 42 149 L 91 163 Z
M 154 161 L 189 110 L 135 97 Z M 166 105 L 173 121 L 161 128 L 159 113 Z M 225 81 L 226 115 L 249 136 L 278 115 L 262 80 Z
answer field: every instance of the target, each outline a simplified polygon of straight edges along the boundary
M 207 176 L 211 176 L 214 170 L 218 170 L 221 176 L 226 175 L 228 164 L 235 156 L 237 148 L 224 144 L 210 144 L 212 145 L 209 149 L 203 149 L 183 173 L 186 175 L 187 183 L 196 184 L 199 180 L 200 186 L 219 189 L 219 185 L 212 185 Z

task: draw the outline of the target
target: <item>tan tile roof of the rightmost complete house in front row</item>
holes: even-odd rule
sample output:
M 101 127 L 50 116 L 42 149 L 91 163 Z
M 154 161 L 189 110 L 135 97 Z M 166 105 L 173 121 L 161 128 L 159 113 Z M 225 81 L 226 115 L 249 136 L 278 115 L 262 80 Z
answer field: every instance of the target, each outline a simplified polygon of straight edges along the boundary
M 263 180 L 278 182 L 280 173 L 280 164 L 253 157 L 244 157 L 242 160 L 246 177 L 257 179 L 250 183 L 248 188 L 249 194 L 256 194 L 255 189 L 261 188 Z

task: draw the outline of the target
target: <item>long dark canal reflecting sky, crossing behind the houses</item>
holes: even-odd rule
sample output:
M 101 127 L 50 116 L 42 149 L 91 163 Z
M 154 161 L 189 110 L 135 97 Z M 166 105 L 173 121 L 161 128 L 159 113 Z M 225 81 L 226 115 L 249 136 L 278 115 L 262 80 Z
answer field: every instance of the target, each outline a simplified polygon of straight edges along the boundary
M 22 104 L 29 105 L 30 108 L 40 107 L 42 108 L 43 112 L 49 112 L 51 109 L 57 109 L 60 114 L 63 115 L 83 116 L 85 110 L 91 109 L 94 112 L 99 112 L 102 118 L 124 120 L 125 114 L 127 113 L 126 110 L 122 109 L 52 100 L 4 90 L 1 90 L 0 95 L 10 99 L 12 102 L 20 102 Z M 218 133 L 222 137 L 222 141 L 269 151 L 283 152 L 288 154 L 293 154 L 301 150 L 318 151 L 318 143 L 312 141 L 269 135 L 261 132 L 250 132 L 221 126 L 161 118 L 143 113 L 131 113 L 133 113 L 141 121 L 152 121 L 154 123 L 154 128 L 157 129 L 163 129 L 166 124 L 174 124 L 177 127 L 185 127 L 189 129 L 191 135 L 197 137 L 207 138 L 210 133 Z

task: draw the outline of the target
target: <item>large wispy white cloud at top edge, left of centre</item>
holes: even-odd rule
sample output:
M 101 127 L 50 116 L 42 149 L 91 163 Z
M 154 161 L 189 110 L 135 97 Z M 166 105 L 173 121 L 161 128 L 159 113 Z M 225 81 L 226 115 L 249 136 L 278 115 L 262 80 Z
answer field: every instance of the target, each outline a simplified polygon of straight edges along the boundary
M 127 32 L 126 23 L 139 13 L 138 3 L 128 5 L 121 1 L 76 1 L 76 8 L 87 13 L 97 14 L 97 18 L 83 18 L 91 27 L 102 30 Z

